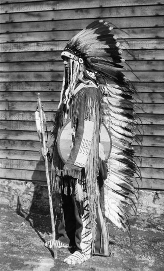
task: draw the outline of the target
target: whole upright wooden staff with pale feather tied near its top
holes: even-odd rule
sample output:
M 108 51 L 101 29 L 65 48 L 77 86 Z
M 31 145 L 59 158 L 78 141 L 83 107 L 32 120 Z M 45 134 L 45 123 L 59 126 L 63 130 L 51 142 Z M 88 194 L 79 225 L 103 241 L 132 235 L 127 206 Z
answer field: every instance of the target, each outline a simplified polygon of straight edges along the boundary
M 35 120 L 36 120 L 36 129 L 37 129 L 39 141 L 41 143 L 41 148 L 43 149 L 43 152 L 44 152 L 45 170 L 46 170 L 46 178 L 47 178 L 47 186 L 48 186 L 48 198 L 49 198 L 50 214 L 51 214 L 54 260 L 55 260 L 57 259 L 55 220 L 54 220 L 54 211 L 53 211 L 53 205 L 52 205 L 51 185 L 50 185 L 48 159 L 47 159 L 47 152 L 46 152 L 46 141 L 45 141 L 45 133 L 44 133 L 44 123 L 46 122 L 46 119 L 45 119 L 45 114 L 43 111 L 43 106 L 41 104 L 40 93 L 37 94 L 37 107 L 36 107 L 36 112 L 35 112 Z

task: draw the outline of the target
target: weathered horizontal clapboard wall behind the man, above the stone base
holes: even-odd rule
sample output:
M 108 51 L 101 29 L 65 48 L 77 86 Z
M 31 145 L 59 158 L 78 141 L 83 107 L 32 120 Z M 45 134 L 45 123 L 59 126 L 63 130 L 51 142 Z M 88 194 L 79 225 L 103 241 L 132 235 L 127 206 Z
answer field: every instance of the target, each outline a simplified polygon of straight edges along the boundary
M 113 30 L 125 38 L 123 57 L 141 80 L 125 72 L 138 90 L 136 111 L 144 130 L 142 150 L 134 144 L 142 157 L 141 165 L 136 160 L 140 188 L 164 190 L 162 4 L 163 0 L 1 1 L 1 178 L 46 180 L 34 122 L 37 93 L 50 130 L 61 90 L 61 50 L 71 36 L 101 18 L 129 34 Z

